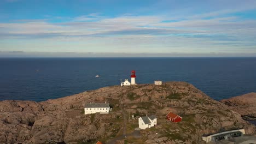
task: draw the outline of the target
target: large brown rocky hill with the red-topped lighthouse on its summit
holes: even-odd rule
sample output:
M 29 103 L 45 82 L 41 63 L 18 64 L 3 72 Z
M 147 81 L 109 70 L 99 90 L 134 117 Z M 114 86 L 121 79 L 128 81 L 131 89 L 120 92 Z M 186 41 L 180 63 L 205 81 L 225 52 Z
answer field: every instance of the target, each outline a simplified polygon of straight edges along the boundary
M 104 101 L 113 107 L 109 114 L 84 115 L 86 103 Z M 166 121 L 170 111 L 182 122 Z M 138 120 L 130 113 L 156 115 L 158 125 L 135 133 Z M 40 103 L 0 101 L 0 143 L 205 143 L 202 134 L 236 128 L 255 133 L 239 113 L 185 82 L 104 87 Z

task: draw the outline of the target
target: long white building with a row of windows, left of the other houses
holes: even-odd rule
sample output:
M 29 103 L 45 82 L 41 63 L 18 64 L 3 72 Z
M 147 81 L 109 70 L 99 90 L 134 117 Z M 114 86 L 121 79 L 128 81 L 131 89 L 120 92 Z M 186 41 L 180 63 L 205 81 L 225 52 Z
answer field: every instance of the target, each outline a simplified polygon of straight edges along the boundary
M 109 113 L 110 106 L 109 103 L 90 103 L 85 104 L 84 107 L 84 115 L 90 114 L 90 113 Z

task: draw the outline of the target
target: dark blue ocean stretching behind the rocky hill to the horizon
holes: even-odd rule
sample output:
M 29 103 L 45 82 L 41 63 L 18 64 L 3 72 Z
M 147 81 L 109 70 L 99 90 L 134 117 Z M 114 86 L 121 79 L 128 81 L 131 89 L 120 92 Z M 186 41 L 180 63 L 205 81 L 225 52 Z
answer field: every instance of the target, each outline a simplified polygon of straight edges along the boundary
M 256 92 L 256 57 L 0 58 L 0 100 L 43 101 L 120 85 L 131 70 L 137 83 L 185 81 L 216 100 Z

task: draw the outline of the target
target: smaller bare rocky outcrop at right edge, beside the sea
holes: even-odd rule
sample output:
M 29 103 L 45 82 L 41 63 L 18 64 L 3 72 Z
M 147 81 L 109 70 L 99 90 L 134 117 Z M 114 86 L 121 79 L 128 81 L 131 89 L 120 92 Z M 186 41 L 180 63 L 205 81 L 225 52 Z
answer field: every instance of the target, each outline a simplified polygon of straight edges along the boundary
M 243 119 L 256 120 L 256 93 L 248 93 L 220 101 L 230 106 L 230 109 L 240 113 Z

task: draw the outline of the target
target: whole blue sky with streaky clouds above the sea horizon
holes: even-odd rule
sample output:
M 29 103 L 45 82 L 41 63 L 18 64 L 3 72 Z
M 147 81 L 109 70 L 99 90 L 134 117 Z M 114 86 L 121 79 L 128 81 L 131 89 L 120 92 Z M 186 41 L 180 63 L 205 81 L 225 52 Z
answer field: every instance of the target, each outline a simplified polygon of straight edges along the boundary
M 256 56 L 255 39 L 250 0 L 0 0 L 0 57 Z

